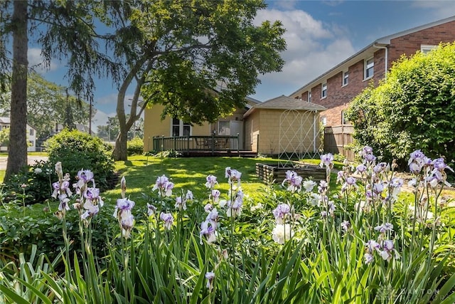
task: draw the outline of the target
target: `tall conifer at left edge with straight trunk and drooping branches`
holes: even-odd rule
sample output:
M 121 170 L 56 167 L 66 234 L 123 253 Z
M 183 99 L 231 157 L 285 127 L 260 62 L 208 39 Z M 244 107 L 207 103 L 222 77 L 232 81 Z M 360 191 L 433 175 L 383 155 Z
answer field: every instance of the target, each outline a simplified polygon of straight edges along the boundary
M 4 90 L 5 82 L 11 81 L 10 150 L 5 179 L 27 162 L 28 43 L 41 46 L 46 66 L 53 58 L 65 60 L 68 87 L 87 100 L 92 98 L 95 77 L 107 72 L 114 79 L 118 78 L 117 65 L 97 49 L 93 17 L 103 5 L 100 1 L 88 0 L 1 1 L 0 88 Z

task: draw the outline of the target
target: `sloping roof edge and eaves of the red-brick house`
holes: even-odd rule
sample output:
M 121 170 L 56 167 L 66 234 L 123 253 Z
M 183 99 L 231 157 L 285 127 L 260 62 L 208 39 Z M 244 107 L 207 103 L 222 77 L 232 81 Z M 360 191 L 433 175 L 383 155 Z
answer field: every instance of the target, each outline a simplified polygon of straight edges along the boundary
M 309 88 L 313 88 L 315 85 L 319 85 L 322 81 L 326 81 L 328 78 L 333 77 L 334 75 L 348 70 L 348 67 L 350 65 L 353 65 L 354 63 L 358 63 L 358 61 L 361 61 L 365 58 L 368 58 L 370 56 L 373 56 L 375 51 L 378 51 L 379 48 L 384 48 L 385 46 L 388 46 L 390 44 L 390 41 L 394 38 L 409 35 L 410 33 L 415 33 L 417 31 L 422 31 L 427 28 L 432 28 L 433 26 L 439 26 L 444 23 L 448 23 L 451 21 L 455 21 L 455 16 L 451 16 L 446 19 L 441 19 L 438 21 L 434 21 L 432 23 L 427 23 L 422 26 L 417 26 L 415 28 L 410 28 L 407 29 L 406 31 L 400 31 L 398 33 L 393 33 L 392 35 L 384 36 L 381 38 L 376 39 L 373 41 L 373 43 L 370 43 L 368 46 L 365 48 L 361 49 L 357 53 L 355 53 L 353 56 L 350 56 L 347 58 L 345 61 L 339 63 L 338 65 L 335 65 L 333 68 L 330 70 L 326 71 L 325 73 L 319 75 L 318 77 L 314 78 L 314 80 L 311 80 L 309 83 L 306 83 L 306 85 L 302 86 L 298 90 L 294 91 L 293 93 L 289 94 L 295 95 L 296 93 L 303 93 Z

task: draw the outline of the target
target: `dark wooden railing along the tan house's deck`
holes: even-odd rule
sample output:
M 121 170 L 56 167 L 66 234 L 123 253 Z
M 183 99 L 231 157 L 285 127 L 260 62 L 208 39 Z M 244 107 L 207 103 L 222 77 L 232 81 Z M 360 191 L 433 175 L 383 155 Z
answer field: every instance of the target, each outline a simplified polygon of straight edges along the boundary
M 176 137 L 154 137 L 153 149 L 155 152 L 176 150 L 179 152 L 217 152 L 237 151 L 239 152 L 239 135 L 237 136 L 176 136 Z

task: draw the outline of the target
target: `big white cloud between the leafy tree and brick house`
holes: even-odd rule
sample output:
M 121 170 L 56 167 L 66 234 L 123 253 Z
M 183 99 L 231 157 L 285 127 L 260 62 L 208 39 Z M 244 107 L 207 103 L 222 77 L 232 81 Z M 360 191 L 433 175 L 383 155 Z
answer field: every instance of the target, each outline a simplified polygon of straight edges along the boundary
M 305 11 L 260 11 L 256 22 L 264 20 L 282 21 L 287 29 L 284 33 L 287 50 L 282 52 L 285 61 L 282 72 L 260 77 L 263 85 L 257 88 L 258 95 L 264 95 L 260 91 L 267 90 L 270 84 L 286 90 L 284 94 L 290 94 L 355 53 L 346 28 L 323 23 Z M 276 97 L 277 93 L 266 95 L 265 99 L 269 99 Z

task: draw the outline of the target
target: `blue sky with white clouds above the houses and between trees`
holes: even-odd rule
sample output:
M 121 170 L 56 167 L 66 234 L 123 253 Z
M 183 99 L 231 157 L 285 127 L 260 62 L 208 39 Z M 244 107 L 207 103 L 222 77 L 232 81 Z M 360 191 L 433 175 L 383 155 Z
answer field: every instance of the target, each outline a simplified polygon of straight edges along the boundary
M 281 21 L 287 30 L 287 50 L 281 54 L 282 71 L 261 75 L 256 93 L 250 95 L 262 102 L 294 93 L 378 38 L 455 15 L 451 0 L 266 2 L 267 9 L 258 12 L 255 23 Z M 29 48 L 28 61 L 31 65 L 41 61 L 38 48 Z M 63 70 L 64 63 L 53 61 L 49 70 L 40 72 L 46 80 L 66 86 Z M 116 115 L 117 90 L 111 81 L 102 79 L 94 94 L 97 115 L 92 130 L 96 131 L 97 125 L 107 124 L 107 117 Z

